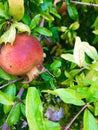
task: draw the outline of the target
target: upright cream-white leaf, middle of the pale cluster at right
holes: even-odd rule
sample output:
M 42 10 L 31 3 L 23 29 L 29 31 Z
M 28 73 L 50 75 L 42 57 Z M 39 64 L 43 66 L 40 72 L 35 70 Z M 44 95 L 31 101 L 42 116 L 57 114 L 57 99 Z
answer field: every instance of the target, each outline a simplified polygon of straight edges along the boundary
M 82 49 L 81 44 L 82 44 L 81 39 L 79 37 L 76 37 L 75 46 L 74 46 L 74 60 L 75 63 L 80 67 L 83 65 L 85 61 L 85 53 L 84 50 Z

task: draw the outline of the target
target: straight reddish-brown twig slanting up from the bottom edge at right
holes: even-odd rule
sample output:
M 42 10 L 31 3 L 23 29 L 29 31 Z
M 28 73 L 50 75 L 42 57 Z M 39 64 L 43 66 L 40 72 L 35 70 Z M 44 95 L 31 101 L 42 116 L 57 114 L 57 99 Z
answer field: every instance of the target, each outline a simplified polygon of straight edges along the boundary
M 72 123 L 77 119 L 77 117 L 88 107 L 89 103 L 86 103 L 80 111 L 75 115 L 75 117 L 68 123 L 68 125 L 64 128 L 64 130 L 69 130 Z

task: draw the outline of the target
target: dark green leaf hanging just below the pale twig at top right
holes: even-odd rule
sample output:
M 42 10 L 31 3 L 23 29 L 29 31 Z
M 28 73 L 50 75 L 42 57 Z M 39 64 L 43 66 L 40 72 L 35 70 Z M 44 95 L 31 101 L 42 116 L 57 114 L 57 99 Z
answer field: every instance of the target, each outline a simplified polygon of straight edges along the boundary
M 78 11 L 76 9 L 76 6 L 73 4 L 68 4 L 68 14 L 71 19 L 78 20 Z

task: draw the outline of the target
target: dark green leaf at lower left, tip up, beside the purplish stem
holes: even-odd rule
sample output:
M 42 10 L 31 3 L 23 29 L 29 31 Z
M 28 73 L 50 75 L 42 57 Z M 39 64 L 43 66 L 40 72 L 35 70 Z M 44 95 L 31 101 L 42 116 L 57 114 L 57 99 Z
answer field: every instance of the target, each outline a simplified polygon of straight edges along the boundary
M 10 114 L 8 116 L 8 125 L 14 125 L 18 122 L 20 116 L 20 104 L 18 103 L 16 106 L 12 108 Z

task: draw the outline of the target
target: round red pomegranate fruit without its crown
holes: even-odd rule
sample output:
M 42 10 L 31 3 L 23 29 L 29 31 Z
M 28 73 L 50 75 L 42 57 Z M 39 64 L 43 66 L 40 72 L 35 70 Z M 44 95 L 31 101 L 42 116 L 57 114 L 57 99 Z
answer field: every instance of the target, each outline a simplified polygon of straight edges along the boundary
M 13 45 L 7 43 L 0 50 L 0 66 L 12 75 L 24 75 L 42 61 L 40 42 L 28 34 L 17 34 Z

